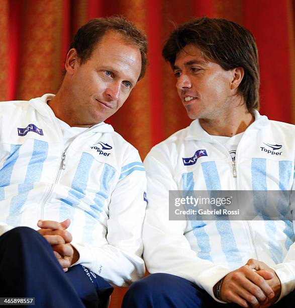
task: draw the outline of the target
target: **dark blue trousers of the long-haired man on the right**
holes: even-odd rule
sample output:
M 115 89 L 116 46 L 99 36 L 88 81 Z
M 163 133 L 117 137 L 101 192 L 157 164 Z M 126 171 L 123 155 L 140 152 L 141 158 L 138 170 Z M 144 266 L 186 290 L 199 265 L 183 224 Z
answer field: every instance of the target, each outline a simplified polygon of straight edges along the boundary
M 194 283 L 178 276 L 158 273 L 132 283 L 122 308 L 225 308 L 239 307 L 214 300 Z M 282 298 L 273 307 L 294 308 L 295 292 Z

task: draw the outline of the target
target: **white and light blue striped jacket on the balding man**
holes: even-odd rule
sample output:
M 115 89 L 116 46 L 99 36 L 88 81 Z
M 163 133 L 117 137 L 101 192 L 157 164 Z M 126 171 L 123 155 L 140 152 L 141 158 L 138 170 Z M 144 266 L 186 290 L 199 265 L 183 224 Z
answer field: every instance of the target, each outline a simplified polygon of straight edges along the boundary
M 49 98 L 0 103 L 0 235 L 70 218 L 78 263 L 126 286 L 145 273 L 146 177 L 138 151 L 100 123 L 64 152 Z

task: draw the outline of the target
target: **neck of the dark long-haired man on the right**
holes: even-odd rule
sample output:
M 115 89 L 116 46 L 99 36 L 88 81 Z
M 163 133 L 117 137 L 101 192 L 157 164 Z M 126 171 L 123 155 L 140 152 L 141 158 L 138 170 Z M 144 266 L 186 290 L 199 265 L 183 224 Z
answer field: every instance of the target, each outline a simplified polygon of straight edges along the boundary
M 232 137 L 245 131 L 254 120 L 254 116 L 243 105 L 215 119 L 200 119 L 199 121 L 202 128 L 210 135 Z

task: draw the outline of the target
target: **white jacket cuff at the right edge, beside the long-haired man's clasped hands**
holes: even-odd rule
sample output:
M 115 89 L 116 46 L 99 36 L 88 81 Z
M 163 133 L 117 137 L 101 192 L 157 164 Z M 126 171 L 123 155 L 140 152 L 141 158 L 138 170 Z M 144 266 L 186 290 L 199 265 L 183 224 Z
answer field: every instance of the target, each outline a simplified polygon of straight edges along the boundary
M 280 263 L 273 265 L 276 275 L 281 283 L 281 292 L 277 301 L 289 294 L 295 288 L 295 276 L 286 264 Z

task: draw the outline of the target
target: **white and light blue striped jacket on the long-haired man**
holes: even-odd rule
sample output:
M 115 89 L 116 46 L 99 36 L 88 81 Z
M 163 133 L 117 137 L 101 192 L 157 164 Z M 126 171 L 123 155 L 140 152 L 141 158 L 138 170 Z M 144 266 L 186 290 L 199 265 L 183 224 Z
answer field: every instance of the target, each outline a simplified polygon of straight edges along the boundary
M 281 155 L 262 149 L 265 143 L 282 145 Z M 199 149 L 208 156 L 185 165 L 183 158 L 193 158 Z M 183 277 L 214 297 L 215 283 L 253 258 L 275 269 L 281 296 L 293 290 L 290 221 L 173 221 L 168 219 L 168 191 L 294 190 L 294 154 L 295 126 L 269 121 L 258 112 L 238 145 L 236 178 L 229 152 L 198 120 L 153 147 L 144 161 L 148 206 L 143 241 L 149 272 Z

